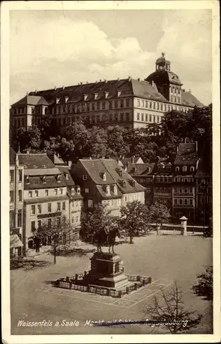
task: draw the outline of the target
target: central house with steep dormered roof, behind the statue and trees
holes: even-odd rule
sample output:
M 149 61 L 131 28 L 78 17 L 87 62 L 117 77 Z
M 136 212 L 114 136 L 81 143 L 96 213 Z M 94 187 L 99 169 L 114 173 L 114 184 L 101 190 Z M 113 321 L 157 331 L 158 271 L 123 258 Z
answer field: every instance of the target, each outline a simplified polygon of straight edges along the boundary
M 122 169 L 116 160 L 80 159 L 71 171 L 72 177 L 81 186 L 84 211 L 95 204 L 104 204 L 112 215 L 120 215 L 120 206 L 138 200 L 145 202 L 145 188 Z

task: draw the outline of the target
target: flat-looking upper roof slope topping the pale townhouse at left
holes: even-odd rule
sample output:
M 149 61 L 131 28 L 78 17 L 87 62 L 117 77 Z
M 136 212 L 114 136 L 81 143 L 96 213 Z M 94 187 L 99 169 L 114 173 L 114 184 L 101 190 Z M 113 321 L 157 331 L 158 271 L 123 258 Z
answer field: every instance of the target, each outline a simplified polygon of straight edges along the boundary
M 19 164 L 25 166 L 25 169 L 54 169 L 56 166 L 48 158 L 46 153 L 36 154 L 18 154 Z

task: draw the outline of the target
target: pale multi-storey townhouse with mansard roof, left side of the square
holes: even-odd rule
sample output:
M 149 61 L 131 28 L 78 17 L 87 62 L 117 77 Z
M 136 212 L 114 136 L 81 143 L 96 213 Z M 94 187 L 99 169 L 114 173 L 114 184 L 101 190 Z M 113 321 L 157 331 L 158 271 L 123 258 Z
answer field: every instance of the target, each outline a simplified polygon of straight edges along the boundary
M 69 219 L 65 178 L 46 154 L 18 154 L 24 168 L 23 245 L 33 247 L 32 230 L 55 217 Z

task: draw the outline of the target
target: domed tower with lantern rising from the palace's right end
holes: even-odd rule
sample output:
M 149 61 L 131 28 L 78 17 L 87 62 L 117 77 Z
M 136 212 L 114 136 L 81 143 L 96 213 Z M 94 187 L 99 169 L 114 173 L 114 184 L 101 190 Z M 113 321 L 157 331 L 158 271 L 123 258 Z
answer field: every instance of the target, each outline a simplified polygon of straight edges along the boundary
M 155 83 L 158 88 L 158 92 L 162 94 L 169 102 L 181 104 L 182 92 L 179 77 L 171 72 L 171 63 L 166 60 L 165 53 L 162 52 L 162 56 L 156 60 L 156 72 L 150 74 L 145 79 L 149 83 Z

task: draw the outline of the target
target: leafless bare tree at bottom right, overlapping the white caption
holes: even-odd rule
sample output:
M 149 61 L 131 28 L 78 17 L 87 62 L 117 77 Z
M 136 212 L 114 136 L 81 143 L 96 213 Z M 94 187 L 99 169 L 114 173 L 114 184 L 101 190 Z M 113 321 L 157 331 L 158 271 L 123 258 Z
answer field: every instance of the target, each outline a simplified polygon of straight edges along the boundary
M 151 305 L 144 308 L 143 312 L 153 325 L 163 325 L 171 334 L 186 332 L 196 327 L 202 318 L 201 314 L 185 310 L 182 290 L 176 283 L 170 292 L 165 293 L 161 290 L 160 301 L 154 297 Z

